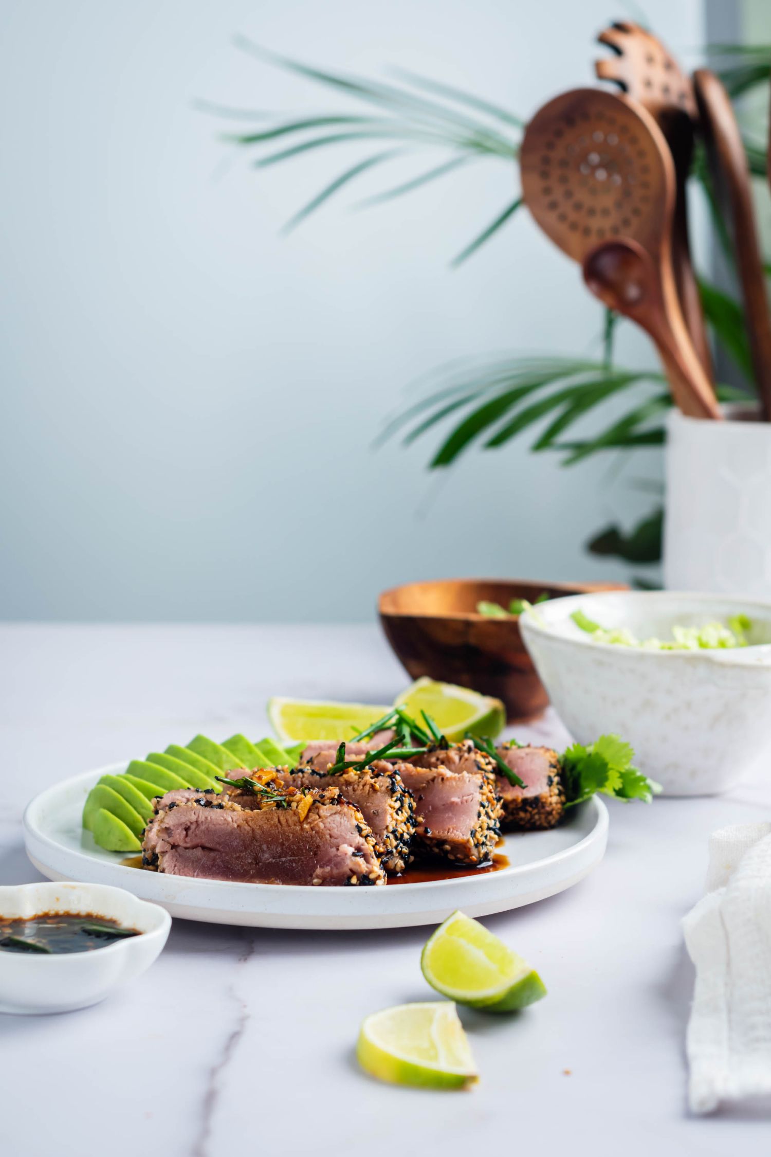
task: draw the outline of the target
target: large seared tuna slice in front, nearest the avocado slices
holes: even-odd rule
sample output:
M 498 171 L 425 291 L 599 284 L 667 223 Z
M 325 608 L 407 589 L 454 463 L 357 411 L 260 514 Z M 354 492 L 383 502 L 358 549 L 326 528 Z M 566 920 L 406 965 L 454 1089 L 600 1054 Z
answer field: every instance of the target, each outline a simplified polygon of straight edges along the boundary
M 336 788 L 272 783 L 255 794 L 237 781 L 223 795 L 199 794 L 158 811 L 144 832 L 148 865 L 250 884 L 385 883 L 372 832 Z

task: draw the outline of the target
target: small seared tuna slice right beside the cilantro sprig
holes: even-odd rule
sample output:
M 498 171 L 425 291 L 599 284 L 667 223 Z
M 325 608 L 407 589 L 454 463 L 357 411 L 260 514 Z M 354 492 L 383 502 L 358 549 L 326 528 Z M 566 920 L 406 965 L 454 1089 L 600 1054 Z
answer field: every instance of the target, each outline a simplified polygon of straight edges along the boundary
M 503 801 L 504 828 L 535 830 L 554 827 L 565 808 L 559 757 L 551 747 L 497 747 L 497 753 L 519 775 L 525 787 L 510 783 L 498 774 L 497 789 Z

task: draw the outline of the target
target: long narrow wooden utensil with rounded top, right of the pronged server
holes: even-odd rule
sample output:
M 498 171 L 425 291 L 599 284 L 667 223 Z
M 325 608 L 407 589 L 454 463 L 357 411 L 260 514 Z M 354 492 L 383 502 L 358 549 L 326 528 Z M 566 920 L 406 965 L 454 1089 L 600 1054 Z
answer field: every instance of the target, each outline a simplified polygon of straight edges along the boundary
M 699 68 L 694 73 L 694 90 L 710 175 L 734 243 L 761 411 L 764 420 L 770 421 L 771 319 L 747 153 L 722 82 L 709 68 Z

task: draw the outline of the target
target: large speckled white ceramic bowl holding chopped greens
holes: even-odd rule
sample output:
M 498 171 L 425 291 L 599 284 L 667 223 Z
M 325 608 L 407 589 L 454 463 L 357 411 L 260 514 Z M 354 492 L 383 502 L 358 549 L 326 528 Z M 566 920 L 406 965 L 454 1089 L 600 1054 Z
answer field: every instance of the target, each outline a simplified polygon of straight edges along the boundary
M 628 627 L 640 640 L 747 614 L 754 646 L 655 651 L 596 643 L 571 619 L 579 607 L 600 626 Z M 667 794 L 713 795 L 771 762 L 771 603 L 608 591 L 542 603 L 521 617 L 520 629 L 571 735 L 584 744 L 620 735 Z

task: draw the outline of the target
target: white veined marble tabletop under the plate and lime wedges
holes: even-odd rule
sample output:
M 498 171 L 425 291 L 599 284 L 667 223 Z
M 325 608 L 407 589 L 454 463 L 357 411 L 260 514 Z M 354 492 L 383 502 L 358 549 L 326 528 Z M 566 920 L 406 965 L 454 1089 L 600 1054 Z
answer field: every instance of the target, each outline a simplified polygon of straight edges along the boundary
M 270 693 L 388 702 L 405 681 L 373 627 L 18 625 L 0 627 L 0 883 L 39 878 L 21 815 L 62 776 L 197 730 L 258 735 Z M 564 738 L 554 718 L 536 730 Z M 700 894 L 709 833 L 770 809 L 768 776 L 720 798 L 611 805 L 608 853 L 591 877 L 489 918 L 550 992 L 518 1019 L 462 1012 L 481 1070 L 468 1093 L 380 1085 L 353 1059 L 368 1012 L 430 998 L 425 930 L 175 921 L 157 964 L 112 1000 L 0 1016 L 0 1151 L 765 1155 L 771 1106 L 705 1120 L 685 1111 L 692 975 L 680 920 Z

